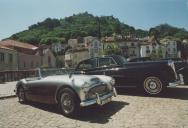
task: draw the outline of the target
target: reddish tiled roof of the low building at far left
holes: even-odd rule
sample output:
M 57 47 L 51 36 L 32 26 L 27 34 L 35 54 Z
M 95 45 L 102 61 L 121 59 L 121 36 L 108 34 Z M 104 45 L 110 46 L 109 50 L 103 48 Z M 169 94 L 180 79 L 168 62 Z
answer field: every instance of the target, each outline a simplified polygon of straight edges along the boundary
M 20 47 L 20 48 L 31 49 L 31 50 L 38 49 L 38 47 L 34 45 L 31 45 L 28 43 L 22 43 L 22 42 L 15 41 L 15 40 L 0 41 L 0 45 L 6 46 L 6 47 Z

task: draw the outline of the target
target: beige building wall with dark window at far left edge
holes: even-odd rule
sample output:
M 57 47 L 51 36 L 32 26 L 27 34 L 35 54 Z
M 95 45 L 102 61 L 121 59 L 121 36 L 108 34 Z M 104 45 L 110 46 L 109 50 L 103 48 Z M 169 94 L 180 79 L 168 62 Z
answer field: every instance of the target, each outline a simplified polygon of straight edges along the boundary
M 17 69 L 18 53 L 13 49 L 0 45 L 0 71 Z

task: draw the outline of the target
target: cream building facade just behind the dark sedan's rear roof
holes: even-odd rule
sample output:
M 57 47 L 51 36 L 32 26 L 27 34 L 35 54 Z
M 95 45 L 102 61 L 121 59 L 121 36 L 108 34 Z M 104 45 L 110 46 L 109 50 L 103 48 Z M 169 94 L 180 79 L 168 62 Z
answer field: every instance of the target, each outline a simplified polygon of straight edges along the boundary
M 65 54 L 65 67 L 74 68 L 80 61 L 88 58 L 90 58 L 88 49 L 71 50 Z

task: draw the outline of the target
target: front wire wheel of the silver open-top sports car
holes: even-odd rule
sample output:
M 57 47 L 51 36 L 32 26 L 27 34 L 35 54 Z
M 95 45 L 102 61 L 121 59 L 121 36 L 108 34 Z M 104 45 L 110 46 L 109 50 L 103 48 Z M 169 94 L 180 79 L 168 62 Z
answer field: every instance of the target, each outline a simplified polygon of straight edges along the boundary
M 76 116 L 80 110 L 80 104 L 77 95 L 69 88 L 61 91 L 59 97 L 59 106 L 62 114 L 67 117 Z

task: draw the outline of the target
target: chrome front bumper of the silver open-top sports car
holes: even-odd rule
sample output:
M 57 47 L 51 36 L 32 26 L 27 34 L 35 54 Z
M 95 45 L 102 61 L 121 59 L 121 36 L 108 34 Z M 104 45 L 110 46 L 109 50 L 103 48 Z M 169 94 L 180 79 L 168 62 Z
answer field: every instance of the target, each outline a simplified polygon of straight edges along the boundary
M 111 101 L 112 99 L 112 96 L 117 96 L 117 92 L 116 92 L 116 89 L 113 88 L 113 91 L 100 97 L 98 93 L 96 93 L 96 98 L 93 99 L 93 100 L 88 100 L 88 101 L 82 101 L 80 103 L 80 106 L 81 107 L 85 107 L 85 106 L 89 106 L 89 105 L 93 105 L 93 104 L 98 104 L 98 105 L 104 105 L 108 102 Z

